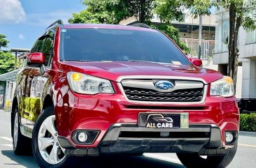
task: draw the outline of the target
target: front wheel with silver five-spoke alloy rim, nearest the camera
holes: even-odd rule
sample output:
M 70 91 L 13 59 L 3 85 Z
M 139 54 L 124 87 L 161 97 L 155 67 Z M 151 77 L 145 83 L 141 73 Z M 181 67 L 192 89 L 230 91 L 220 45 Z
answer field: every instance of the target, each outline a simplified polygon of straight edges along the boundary
M 38 117 L 32 135 L 32 151 L 42 168 L 69 167 L 70 158 L 64 155 L 64 148 L 59 146 L 55 125 L 53 107 L 46 107 Z

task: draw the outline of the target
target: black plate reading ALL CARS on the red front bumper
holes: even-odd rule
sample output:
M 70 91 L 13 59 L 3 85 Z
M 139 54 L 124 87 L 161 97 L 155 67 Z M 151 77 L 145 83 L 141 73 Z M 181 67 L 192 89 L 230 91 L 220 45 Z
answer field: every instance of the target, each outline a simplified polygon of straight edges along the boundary
M 141 113 L 138 114 L 140 128 L 180 128 L 180 114 Z

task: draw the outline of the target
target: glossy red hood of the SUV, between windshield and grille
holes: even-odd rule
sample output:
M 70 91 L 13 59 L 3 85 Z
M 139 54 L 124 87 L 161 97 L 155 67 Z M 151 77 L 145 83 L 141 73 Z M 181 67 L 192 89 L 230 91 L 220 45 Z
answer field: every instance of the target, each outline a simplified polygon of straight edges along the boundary
M 83 72 L 87 75 L 118 81 L 123 76 L 173 76 L 195 77 L 204 79 L 206 83 L 222 78 L 215 70 L 197 66 L 162 64 L 143 61 L 105 61 L 105 62 L 76 62 L 62 61 L 62 70 Z

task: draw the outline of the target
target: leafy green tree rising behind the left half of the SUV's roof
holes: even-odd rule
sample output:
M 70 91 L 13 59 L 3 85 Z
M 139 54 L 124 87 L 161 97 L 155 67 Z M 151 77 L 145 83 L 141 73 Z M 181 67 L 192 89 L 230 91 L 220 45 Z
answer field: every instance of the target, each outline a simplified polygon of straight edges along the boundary
M 90 22 L 119 24 L 128 17 L 135 16 L 138 22 L 149 23 L 152 19 L 154 0 L 84 0 L 87 6 L 80 13 L 74 13 L 71 23 Z

